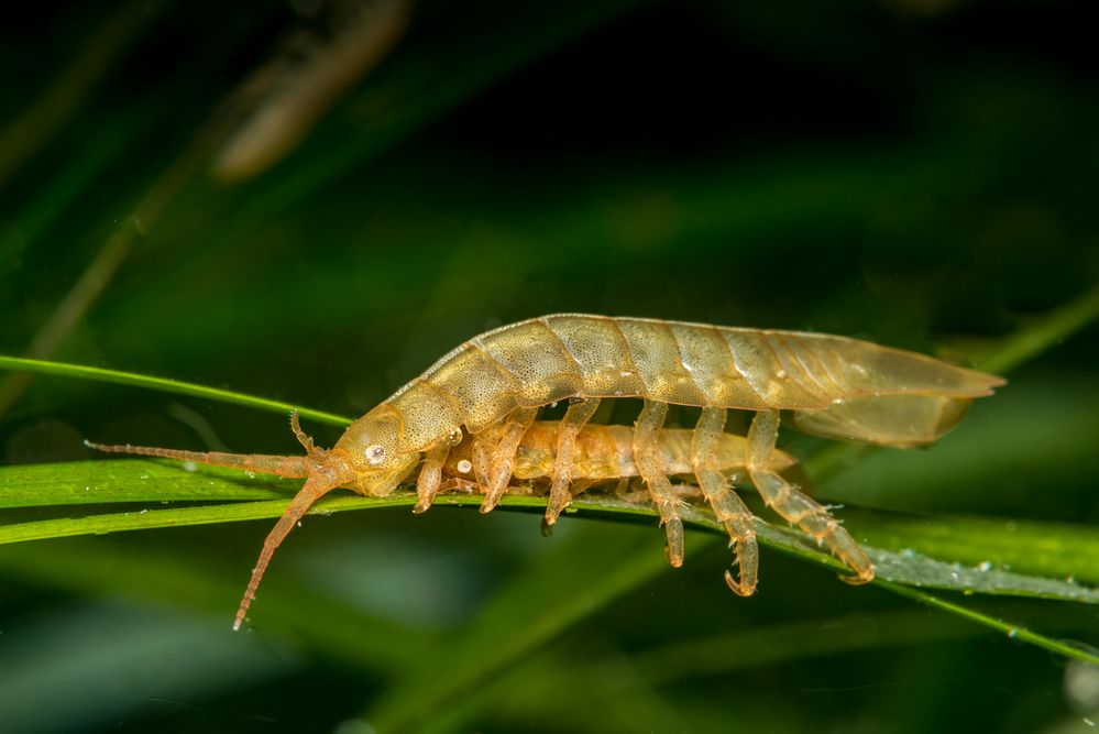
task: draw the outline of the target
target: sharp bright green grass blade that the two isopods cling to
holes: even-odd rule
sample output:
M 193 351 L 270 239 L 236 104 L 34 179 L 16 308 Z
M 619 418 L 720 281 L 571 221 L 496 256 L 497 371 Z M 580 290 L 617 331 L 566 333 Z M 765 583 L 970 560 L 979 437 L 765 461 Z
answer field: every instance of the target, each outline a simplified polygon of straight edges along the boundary
M 226 470 L 207 471 L 206 468 L 200 472 L 191 472 L 161 462 L 142 460 L 0 469 L 0 506 L 8 507 L 26 507 L 35 504 L 45 506 L 56 504 L 58 501 L 84 504 L 97 495 L 98 500 L 105 503 L 147 504 L 167 501 L 257 500 L 168 510 L 141 508 L 131 512 L 95 514 L 87 517 L 13 523 L 0 527 L 0 544 L 277 517 L 285 510 L 288 497 L 297 487 L 292 482 L 271 478 L 249 479 L 239 474 L 230 478 L 227 476 L 229 473 Z M 100 489 L 98 475 L 105 478 L 102 489 Z M 92 485 L 96 486 L 95 492 L 91 490 Z M 64 497 L 64 500 L 50 500 L 55 490 L 57 490 L 58 497 Z M 264 499 L 271 496 L 282 496 L 283 499 Z M 440 497 L 439 504 L 477 506 L 480 501 L 481 497 L 476 495 L 452 494 Z M 344 495 L 329 497 L 318 503 L 311 512 L 332 513 L 369 507 L 411 507 L 415 503 L 416 495 L 410 491 L 396 492 L 383 499 Z M 502 504 L 506 507 L 539 513 L 545 510 L 545 505 L 543 497 L 523 495 L 506 495 Z M 573 508 L 585 515 L 612 518 L 644 517 L 651 522 L 657 517 L 655 510 L 650 506 L 627 503 L 597 494 L 581 495 L 573 504 Z M 872 516 L 867 515 L 867 517 Z M 703 511 L 690 508 L 684 512 L 684 519 L 696 527 L 716 534 L 724 535 L 725 533 L 722 525 L 710 513 Z M 922 521 L 919 518 L 911 518 L 909 522 L 916 528 L 922 525 Z M 892 537 L 912 543 L 906 543 L 898 550 L 868 548 L 877 567 L 878 578 L 883 581 L 934 589 L 1099 603 L 1099 591 L 1065 580 L 1065 577 L 1070 576 L 1070 573 L 1064 572 L 1066 568 L 1077 568 L 1075 561 L 1081 557 L 1099 556 L 1099 534 L 1089 533 L 1086 528 L 1081 528 L 1071 546 L 1051 547 L 1051 556 L 1044 568 L 1059 577 L 1051 579 L 1003 570 L 1003 567 L 1011 566 L 1012 561 L 1015 560 L 1014 554 L 1018 551 L 1015 546 L 999 543 L 997 536 L 990 535 L 983 527 L 977 527 L 970 533 L 965 523 L 965 518 L 955 518 L 953 522 L 954 532 L 959 536 L 972 538 L 975 544 L 981 538 L 989 539 L 989 543 L 977 551 L 970 548 L 970 552 L 978 552 L 987 559 L 987 566 L 963 566 L 960 562 L 936 560 L 917 552 L 920 538 L 926 536 L 920 536 L 919 532 L 911 536 L 906 535 L 901 518 L 894 517 L 892 518 Z M 845 570 L 843 565 L 823 552 L 800 533 L 769 525 L 762 521 L 757 521 L 757 524 L 759 539 L 763 545 L 834 568 L 840 572 Z M 872 525 L 873 523 L 867 521 L 866 524 Z M 1021 533 L 1026 537 L 1041 537 L 1049 529 L 1048 526 L 1041 525 L 1033 530 L 1027 530 L 1025 524 L 1022 525 Z M 1020 540 L 1019 526 L 1020 524 L 1016 524 L 1016 543 Z M 934 538 L 928 548 L 931 551 L 938 549 L 934 544 Z M 945 557 L 949 558 L 949 556 Z M 1057 566 L 1057 558 L 1065 560 L 1064 568 Z

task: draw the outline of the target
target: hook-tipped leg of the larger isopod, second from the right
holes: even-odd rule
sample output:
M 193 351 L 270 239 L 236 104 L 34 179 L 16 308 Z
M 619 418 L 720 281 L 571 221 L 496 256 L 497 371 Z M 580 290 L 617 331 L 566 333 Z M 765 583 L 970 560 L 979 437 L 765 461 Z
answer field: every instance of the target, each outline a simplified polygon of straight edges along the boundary
M 734 581 L 733 574 L 725 571 L 725 582 L 741 596 L 750 596 L 756 591 L 759 548 L 751 512 L 729 486 L 729 480 L 717 471 L 717 442 L 725 430 L 725 417 L 724 408 L 702 408 L 691 440 L 691 464 L 706 502 L 729 534 L 729 546 L 735 548 L 740 580 Z

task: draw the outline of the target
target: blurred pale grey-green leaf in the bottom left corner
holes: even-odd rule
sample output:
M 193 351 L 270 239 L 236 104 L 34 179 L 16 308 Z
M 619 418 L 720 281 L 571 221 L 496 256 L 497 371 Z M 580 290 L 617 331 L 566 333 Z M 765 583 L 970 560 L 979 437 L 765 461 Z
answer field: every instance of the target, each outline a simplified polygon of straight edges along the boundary
M 0 711 L 8 731 L 26 733 L 79 731 L 89 717 L 124 721 L 171 706 L 164 691 L 200 698 L 261 686 L 304 664 L 293 650 L 267 648 L 210 620 L 135 613 L 120 604 L 51 611 L 20 632 L 0 640 Z M 103 639 L 111 640 L 109 654 Z M 176 664 L 160 665 L 165 658 Z M 58 690 L 67 693 L 54 705 L 39 704 Z

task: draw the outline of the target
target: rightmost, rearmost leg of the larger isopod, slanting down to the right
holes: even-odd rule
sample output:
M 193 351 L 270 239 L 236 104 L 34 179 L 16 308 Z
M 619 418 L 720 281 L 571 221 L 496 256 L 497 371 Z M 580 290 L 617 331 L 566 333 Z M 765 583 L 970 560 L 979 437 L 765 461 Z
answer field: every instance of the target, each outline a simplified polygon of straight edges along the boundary
M 828 511 L 799 492 L 793 485 L 767 469 L 779 432 L 779 414 L 765 410 L 756 414 L 748 430 L 748 472 L 760 496 L 774 512 L 807 533 L 817 544 L 824 544 L 856 573 L 840 577 L 849 583 L 866 583 L 873 579 L 873 563 L 862 547 Z

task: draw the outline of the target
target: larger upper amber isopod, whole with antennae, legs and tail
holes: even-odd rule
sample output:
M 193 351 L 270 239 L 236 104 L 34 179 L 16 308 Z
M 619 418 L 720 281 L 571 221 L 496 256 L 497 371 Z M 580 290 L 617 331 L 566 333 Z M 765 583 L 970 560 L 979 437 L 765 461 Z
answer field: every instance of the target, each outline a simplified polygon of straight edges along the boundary
M 727 574 L 729 585 L 750 594 L 756 585 L 751 516 L 721 473 L 717 452 L 727 410 L 754 410 L 744 463 L 763 501 L 850 566 L 855 581 L 869 581 L 873 567 L 854 538 L 771 465 L 779 410 L 791 412 L 809 432 L 909 447 L 936 440 L 961 419 L 972 398 L 1001 384 L 1000 377 L 923 354 L 828 335 L 579 314 L 502 327 L 436 362 L 352 424 L 331 450 L 316 449 L 296 428 L 306 457 L 248 460 L 255 471 L 308 481 L 268 536 L 235 626 L 275 547 L 317 499 L 338 486 L 382 496 L 420 464 L 417 511 L 422 512 L 442 486 L 451 450 L 472 435 L 470 461 L 485 495 L 482 512 L 488 512 L 507 490 L 538 408 L 565 399 L 547 523 L 569 504 L 576 437 L 600 401 L 641 398 L 630 431 L 633 458 L 664 525 L 669 561 L 680 566 L 680 499 L 663 465 L 660 429 L 669 404 L 701 407 L 691 440 L 692 473 L 735 541 L 739 580 Z M 223 454 L 217 462 L 226 461 Z M 245 467 L 243 458 L 234 461 L 231 465 Z

